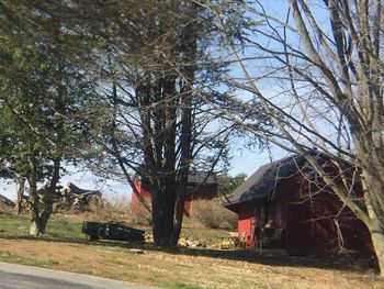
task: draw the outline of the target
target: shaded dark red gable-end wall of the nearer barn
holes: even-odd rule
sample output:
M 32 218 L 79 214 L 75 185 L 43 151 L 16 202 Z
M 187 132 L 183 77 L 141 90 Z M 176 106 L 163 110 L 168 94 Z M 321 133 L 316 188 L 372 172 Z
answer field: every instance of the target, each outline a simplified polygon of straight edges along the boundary
M 340 212 L 342 203 L 334 193 L 319 192 L 317 187 L 296 176 L 282 181 L 275 196 L 287 210 L 285 247 L 289 254 L 329 255 L 338 253 L 340 246 L 362 253 L 373 252 L 364 224 L 353 218 L 349 209 Z M 337 214 L 339 216 L 335 220 L 332 216 Z

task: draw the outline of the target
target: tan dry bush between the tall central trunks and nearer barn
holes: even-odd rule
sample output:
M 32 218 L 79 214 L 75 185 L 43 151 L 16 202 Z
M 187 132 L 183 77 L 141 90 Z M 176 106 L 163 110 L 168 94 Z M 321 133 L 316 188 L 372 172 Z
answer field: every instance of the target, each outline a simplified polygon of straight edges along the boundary
M 237 214 L 225 209 L 218 198 L 193 201 L 192 218 L 197 219 L 205 227 L 225 230 L 237 227 Z

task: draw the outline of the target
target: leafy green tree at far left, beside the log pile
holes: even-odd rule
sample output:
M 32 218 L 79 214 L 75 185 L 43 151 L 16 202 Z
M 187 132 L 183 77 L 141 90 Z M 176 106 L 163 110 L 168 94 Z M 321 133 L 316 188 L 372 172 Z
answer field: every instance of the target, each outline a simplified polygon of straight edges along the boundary
M 0 162 L 27 179 L 36 234 L 50 215 L 61 163 L 87 141 L 83 111 L 94 91 L 82 63 L 91 42 L 56 13 L 54 4 L 42 10 L 34 1 L 0 5 Z M 41 214 L 37 193 L 48 196 Z

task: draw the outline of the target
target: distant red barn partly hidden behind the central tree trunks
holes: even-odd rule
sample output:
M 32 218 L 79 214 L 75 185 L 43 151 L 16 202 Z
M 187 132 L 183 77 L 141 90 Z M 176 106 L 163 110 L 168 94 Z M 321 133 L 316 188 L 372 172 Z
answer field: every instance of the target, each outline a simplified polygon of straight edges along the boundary
M 142 186 L 142 181 L 135 181 L 138 193 L 145 199 L 150 200 L 150 192 Z M 210 200 L 217 196 L 217 180 L 215 175 L 208 175 L 205 171 L 191 171 L 188 176 L 184 214 L 190 216 L 192 212 L 192 201 L 197 199 Z M 132 203 L 138 203 L 136 193 L 132 193 Z

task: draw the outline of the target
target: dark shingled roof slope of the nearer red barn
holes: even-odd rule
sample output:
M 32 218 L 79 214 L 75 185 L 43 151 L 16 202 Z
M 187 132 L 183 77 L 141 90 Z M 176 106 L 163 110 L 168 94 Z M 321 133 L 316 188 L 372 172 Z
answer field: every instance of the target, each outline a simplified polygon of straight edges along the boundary
M 293 155 L 261 166 L 236 190 L 227 196 L 224 207 L 267 198 L 282 179 L 295 175 L 297 168 L 303 166 L 304 163 L 305 159 L 303 156 Z

